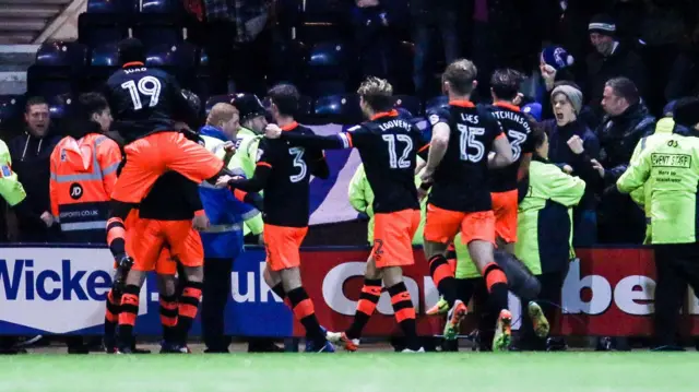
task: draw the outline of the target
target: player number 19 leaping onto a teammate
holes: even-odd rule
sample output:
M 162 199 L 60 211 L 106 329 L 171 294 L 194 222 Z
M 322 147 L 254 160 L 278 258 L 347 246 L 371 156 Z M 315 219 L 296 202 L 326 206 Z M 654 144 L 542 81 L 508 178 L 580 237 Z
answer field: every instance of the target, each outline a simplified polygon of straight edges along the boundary
M 175 121 L 197 122 L 198 111 L 171 75 L 145 67 L 145 49 L 135 38 L 119 43 L 122 69 L 107 80 L 105 96 L 115 128 L 126 141 L 127 163 L 111 194 L 107 243 L 122 271 L 132 263 L 126 253 L 123 219 L 157 178 L 177 171 L 200 183 L 227 173 L 223 162 L 175 130 Z M 198 98 L 197 98 L 198 99 Z

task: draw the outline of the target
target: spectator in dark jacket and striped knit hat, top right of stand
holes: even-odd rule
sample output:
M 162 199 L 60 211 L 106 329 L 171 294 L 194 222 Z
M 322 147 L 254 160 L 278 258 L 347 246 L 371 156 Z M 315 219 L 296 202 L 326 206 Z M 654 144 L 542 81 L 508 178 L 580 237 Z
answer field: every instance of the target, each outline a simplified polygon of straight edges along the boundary
M 616 38 L 616 25 L 609 15 L 593 16 L 589 32 L 594 51 L 588 56 L 585 96 L 597 117 L 602 117 L 602 93 L 605 83 L 612 78 L 626 76 L 636 84 L 642 95 L 647 85 L 645 67 L 632 47 Z

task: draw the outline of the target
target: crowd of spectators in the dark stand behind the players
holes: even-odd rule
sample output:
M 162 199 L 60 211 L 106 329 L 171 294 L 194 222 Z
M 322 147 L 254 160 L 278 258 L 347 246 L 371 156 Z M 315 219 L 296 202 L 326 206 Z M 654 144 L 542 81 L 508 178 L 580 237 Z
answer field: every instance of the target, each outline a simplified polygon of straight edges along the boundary
M 521 103 L 549 135 L 550 161 L 592 185 L 574 212 L 577 246 L 642 243 L 642 209 L 607 190 L 641 138 L 672 112 L 667 104 L 699 93 L 699 5 L 689 0 L 182 0 L 182 5 L 192 31 L 188 39 L 209 58 L 204 100 L 233 92 L 262 94 L 281 80 L 311 97 L 351 93 L 358 80 L 377 75 L 391 81 L 396 93 L 425 103 L 441 94 L 445 63 L 466 57 L 478 68 L 475 100 L 488 103 L 495 69 L 521 71 Z M 299 82 L 308 75 L 300 58 L 325 41 L 343 45 L 325 52 L 344 51 L 340 80 Z M 1 135 L 33 215 L 3 218 L 9 227 L 0 228 L 0 239 L 52 241 L 58 234 L 44 213 L 57 136 L 45 102 L 29 99 L 25 111 L 24 129 L 4 129 Z

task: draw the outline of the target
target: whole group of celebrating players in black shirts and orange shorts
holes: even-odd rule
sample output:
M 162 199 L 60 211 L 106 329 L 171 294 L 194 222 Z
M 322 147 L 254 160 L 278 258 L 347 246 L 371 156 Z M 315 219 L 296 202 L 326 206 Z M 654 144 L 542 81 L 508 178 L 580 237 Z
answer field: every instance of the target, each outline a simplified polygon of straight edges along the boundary
M 425 197 L 429 199 L 424 249 L 442 308 L 448 309 L 445 337 L 457 337 L 467 313 L 446 257 L 461 234 L 499 312 L 493 347 L 509 348 L 508 278 L 494 251 L 497 243 L 512 252 L 518 180 L 531 157 L 531 128 L 512 103 L 518 87 L 508 79 L 509 71 L 500 71 L 503 83 L 494 87 L 495 103 L 486 107 L 470 100 L 476 86 L 475 66 L 469 60 L 449 64 L 442 75 L 449 105 L 428 114 L 433 127 L 428 142 L 393 108 L 393 88 L 384 80 L 368 78 L 357 91 L 367 121 L 329 136 L 316 135 L 296 122 L 298 91 L 289 84 L 276 85 L 268 94 L 273 123 L 260 142 L 253 176 L 244 178 L 178 130 L 187 128 L 182 122 L 196 122 L 197 105 L 191 105 L 191 94 L 173 76 L 145 67 L 139 40 L 120 43 L 119 59 L 122 69 L 109 78 L 105 93 L 126 143 L 126 162 L 107 223 L 107 242 L 117 269 L 106 312 L 109 352 L 139 352 L 132 331 L 145 273 L 153 270 L 164 277 L 159 285 L 163 352 L 188 352 L 187 333 L 197 316 L 203 280 L 203 251 L 194 229 L 202 214 L 197 185 L 203 181 L 229 188 L 236 195 L 263 192 L 264 278 L 306 329 L 307 351 L 334 352 L 333 343 L 356 351 L 383 285 L 406 338 L 404 352 L 424 352 L 402 268 L 414 263 L 412 238 Z M 323 150 L 352 147 L 359 151 L 375 193 L 375 241 L 352 325 L 344 332 L 329 332 L 320 325 L 301 283 L 299 247 L 308 230 L 310 176 L 330 175 Z M 417 173 L 419 187 L 415 186 Z M 166 278 L 174 276 L 175 263 L 182 266 L 179 282 Z M 543 316 L 534 322 L 537 331 L 548 329 Z

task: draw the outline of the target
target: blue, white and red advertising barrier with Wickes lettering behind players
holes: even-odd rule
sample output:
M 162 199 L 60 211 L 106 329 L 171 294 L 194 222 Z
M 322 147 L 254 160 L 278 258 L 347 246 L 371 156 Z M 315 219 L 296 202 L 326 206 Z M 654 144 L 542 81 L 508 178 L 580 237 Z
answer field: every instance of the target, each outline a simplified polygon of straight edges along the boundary
M 348 326 L 362 285 L 368 250 L 316 248 L 303 251 L 303 276 L 316 312 L 330 330 Z M 652 331 L 653 254 L 645 248 L 595 248 L 578 251 L 562 288 L 564 311 L 555 324 L 565 335 L 649 335 Z M 423 252 L 406 269 L 406 285 L 418 314 L 418 332 L 437 334 L 441 321 L 424 316 L 438 300 Z M 0 334 L 99 334 L 112 259 L 106 248 L 85 246 L 0 246 Z M 262 278 L 264 253 L 251 249 L 236 260 L 226 333 L 237 336 L 300 336 L 292 312 Z M 161 333 L 155 276 L 141 293 L 137 332 Z M 514 319 L 519 301 L 510 297 Z M 689 290 L 685 333 L 699 334 L 699 299 Z M 367 335 L 398 333 L 390 298 L 383 293 Z M 517 328 L 517 325 L 516 325 Z M 200 333 L 199 323 L 193 334 Z

